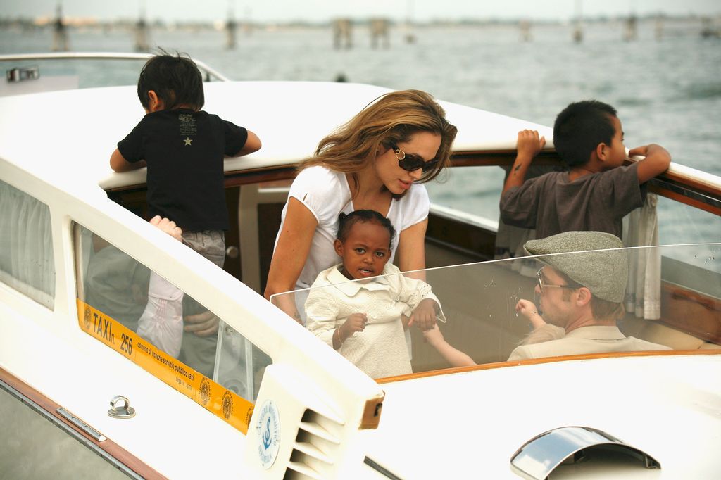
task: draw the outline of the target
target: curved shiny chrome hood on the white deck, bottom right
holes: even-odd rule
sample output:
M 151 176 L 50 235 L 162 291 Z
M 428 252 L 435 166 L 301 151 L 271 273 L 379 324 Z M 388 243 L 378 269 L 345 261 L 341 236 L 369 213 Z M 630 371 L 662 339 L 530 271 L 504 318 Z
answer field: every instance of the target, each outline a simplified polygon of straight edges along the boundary
M 541 433 L 516 450 L 510 458 L 511 470 L 525 479 L 544 480 L 571 455 L 578 456 L 583 449 L 599 445 L 614 445 L 641 458 L 645 468 L 661 468 L 647 453 L 606 432 L 590 427 L 560 427 Z

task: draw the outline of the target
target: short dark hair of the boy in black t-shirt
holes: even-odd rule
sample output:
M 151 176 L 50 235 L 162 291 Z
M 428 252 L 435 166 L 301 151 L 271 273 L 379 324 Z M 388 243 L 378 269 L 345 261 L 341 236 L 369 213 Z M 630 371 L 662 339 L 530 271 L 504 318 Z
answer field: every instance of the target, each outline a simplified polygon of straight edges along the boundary
M 193 110 L 203 108 L 203 75 L 198 66 L 186 54 L 169 55 L 161 51 L 145 63 L 138 78 L 138 98 L 143 107 L 148 109 L 148 92 L 154 90 L 165 110 L 177 105 L 188 105 Z

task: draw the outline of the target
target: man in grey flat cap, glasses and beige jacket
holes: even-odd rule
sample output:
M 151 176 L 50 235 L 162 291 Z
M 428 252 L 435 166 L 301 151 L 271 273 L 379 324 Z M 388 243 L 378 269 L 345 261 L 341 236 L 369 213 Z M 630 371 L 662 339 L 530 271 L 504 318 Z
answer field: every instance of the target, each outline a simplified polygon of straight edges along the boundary
M 625 315 L 627 258 L 622 241 L 598 231 L 568 231 L 527 241 L 531 255 L 543 255 L 538 271 L 540 310 L 549 324 L 565 329 L 565 337 L 521 345 L 508 360 L 584 353 L 670 350 L 634 337 L 616 326 Z M 588 252 L 603 250 L 601 252 Z M 568 254 L 566 252 L 583 252 Z

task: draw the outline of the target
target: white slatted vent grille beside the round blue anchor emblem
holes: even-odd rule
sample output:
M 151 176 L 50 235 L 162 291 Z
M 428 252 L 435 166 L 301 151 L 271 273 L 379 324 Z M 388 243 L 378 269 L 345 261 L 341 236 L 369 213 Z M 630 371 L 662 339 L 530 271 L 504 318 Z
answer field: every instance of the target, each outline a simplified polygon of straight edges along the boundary
M 340 445 L 342 425 L 307 409 L 298 426 L 285 480 L 327 479 Z

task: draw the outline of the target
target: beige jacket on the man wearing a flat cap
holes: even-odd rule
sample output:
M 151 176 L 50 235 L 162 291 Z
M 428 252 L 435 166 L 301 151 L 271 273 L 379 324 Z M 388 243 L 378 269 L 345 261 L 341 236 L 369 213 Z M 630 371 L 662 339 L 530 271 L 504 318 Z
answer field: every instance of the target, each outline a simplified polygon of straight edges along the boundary
M 626 337 L 617 326 L 582 326 L 567 333 L 562 339 L 550 342 L 521 345 L 510 353 L 508 360 L 580 355 L 584 353 L 643 352 L 671 350 L 665 345 Z

